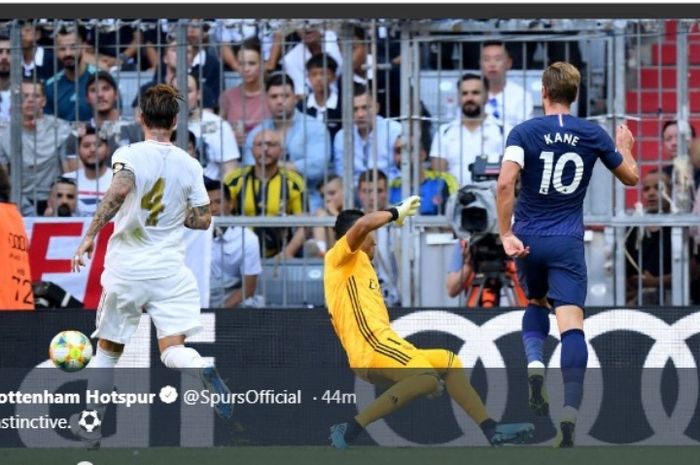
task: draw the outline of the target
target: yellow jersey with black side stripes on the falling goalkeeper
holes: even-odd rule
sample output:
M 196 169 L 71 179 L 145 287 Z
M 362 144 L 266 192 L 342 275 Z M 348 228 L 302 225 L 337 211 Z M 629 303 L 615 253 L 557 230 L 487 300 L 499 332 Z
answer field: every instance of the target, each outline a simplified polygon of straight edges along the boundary
M 323 269 L 328 313 L 350 367 L 370 367 L 377 353 L 405 365 L 407 357 L 389 341 L 398 337 L 389 325 L 379 279 L 367 254 L 351 251 L 343 236 L 326 253 Z

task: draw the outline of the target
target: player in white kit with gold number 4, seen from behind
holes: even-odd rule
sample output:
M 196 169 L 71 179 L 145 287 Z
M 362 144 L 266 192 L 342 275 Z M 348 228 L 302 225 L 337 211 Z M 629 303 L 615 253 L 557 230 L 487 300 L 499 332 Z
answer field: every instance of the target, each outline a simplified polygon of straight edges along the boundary
M 170 142 L 180 99 L 178 91 L 166 84 L 146 91 L 140 105 L 145 140 L 114 153 L 112 183 L 75 252 L 72 269 L 79 271 L 84 266 L 83 256 L 92 256 L 95 237 L 114 218 L 101 279 L 97 329 L 92 334 L 99 342 L 89 368 L 116 366 L 146 310 L 156 327 L 165 366 L 197 374 L 210 392 L 227 394 L 230 391 L 216 368 L 184 345 L 185 338 L 202 325 L 197 282 L 185 266 L 182 226 L 208 229 L 211 213 L 201 165 Z M 90 390 L 111 392 L 114 388 L 111 369 L 99 370 L 99 376 L 89 378 Z M 105 410 L 105 406 L 88 408 L 100 415 Z M 224 418 L 233 413 L 226 403 L 215 409 Z M 99 431 L 93 435 L 76 432 L 88 447 L 99 447 Z

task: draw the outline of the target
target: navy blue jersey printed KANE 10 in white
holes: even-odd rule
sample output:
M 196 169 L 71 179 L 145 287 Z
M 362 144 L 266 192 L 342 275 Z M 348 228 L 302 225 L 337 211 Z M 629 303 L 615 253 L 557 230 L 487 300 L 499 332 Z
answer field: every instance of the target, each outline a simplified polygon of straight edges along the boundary
M 522 168 L 513 232 L 582 238 L 583 198 L 598 158 L 609 170 L 622 163 L 610 136 L 590 121 L 548 115 L 514 127 L 503 157 Z

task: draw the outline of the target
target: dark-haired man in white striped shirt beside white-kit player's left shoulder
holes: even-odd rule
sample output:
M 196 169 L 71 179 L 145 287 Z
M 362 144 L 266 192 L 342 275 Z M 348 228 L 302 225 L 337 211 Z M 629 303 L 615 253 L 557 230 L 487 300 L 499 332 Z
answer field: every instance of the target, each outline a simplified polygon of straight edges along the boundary
M 65 177 L 76 180 L 78 185 L 78 213 L 92 216 L 112 182 L 109 165 L 111 152 L 107 139 L 93 126 L 85 128 L 78 139 L 78 157 L 81 168 Z

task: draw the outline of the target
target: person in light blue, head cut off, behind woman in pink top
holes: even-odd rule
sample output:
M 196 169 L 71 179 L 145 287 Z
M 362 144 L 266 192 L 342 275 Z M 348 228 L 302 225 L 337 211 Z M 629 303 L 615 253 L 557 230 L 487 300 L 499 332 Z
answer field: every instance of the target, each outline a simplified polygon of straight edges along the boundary
M 221 60 L 226 69 L 241 71 L 238 44 L 256 41 L 261 44 L 262 67 L 266 72 L 277 69 L 282 56 L 284 37 L 277 21 L 260 21 L 260 19 L 223 19 L 218 22 L 216 31 Z

